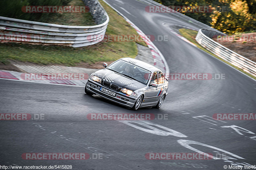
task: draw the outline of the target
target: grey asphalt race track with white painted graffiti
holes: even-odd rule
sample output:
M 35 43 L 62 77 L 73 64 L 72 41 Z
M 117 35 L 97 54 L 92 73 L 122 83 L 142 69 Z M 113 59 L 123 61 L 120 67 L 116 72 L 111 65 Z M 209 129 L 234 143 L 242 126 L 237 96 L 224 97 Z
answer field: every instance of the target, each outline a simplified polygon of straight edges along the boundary
M 0 113 L 44 116 L 40 120 L 0 122 L 0 165 L 72 165 L 75 170 L 224 169 L 224 165 L 256 165 L 256 122 L 212 119 L 215 113 L 256 113 L 256 81 L 176 37 L 163 25 L 173 23 L 198 29 L 190 23 L 167 13 L 147 13 L 147 4 L 136 0 L 107 2 L 146 35 L 168 35 L 169 41 L 154 44 L 164 55 L 170 73 L 221 73 L 225 79 L 170 80 L 160 109 L 138 111 L 86 95 L 82 87 L 0 79 Z M 151 113 L 156 117 L 167 114 L 168 119 L 92 121 L 86 118 L 90 113 Z M 222 159 L 145 158 L 151 152 L 198 151 Z M 90 158 L 99 153 L 102 159 L 23 160 L 22 153 L 89 153 Z

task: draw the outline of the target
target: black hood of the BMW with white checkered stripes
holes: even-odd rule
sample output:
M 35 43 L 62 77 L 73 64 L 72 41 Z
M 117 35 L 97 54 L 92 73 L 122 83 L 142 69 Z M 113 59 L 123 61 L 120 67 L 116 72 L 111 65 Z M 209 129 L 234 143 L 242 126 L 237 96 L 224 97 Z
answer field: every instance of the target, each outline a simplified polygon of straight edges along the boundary
M 118 74 L 112 70 L 102 69 L 94 73 L 94 76 L 101 78 L 103 81 L 108 81 L 111 84 L 117 85 L 119 88 L 126 88 L 128 90 L 138 90 L 146 87 L 143 83 L 140 83 L 131 78 L 127 78 L 121 74 Z

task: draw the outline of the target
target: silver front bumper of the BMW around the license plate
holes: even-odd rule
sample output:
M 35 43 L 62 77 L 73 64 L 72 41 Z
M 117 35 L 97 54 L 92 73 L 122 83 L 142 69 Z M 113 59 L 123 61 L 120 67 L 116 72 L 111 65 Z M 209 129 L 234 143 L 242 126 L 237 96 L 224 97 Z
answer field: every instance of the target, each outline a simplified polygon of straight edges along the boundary
M 108 93 L 100 91 L 100 87 L 103 87 L 104 89 L 107 89 L 111 92 L 115 92 L 116 95 L 112 96 Z M 116 92 L 108 87 L 105 87 L 103 85 L 100 85 L 99 83 L 93 82 L 92 80 L 88 79 L 88 82 L 86 83 L 86 90 L 89 92 L 92 92 L 94 94 L 97 94 L 105 99 L 108 99 L 110 101 L 113 101 L 115 103 L 118 103 L 120 105 L 126 106 L 126 107 L 133 107 L 135 102 L 137 101 L 136 97 L 126 96 L 125 94 L 121 92 Z

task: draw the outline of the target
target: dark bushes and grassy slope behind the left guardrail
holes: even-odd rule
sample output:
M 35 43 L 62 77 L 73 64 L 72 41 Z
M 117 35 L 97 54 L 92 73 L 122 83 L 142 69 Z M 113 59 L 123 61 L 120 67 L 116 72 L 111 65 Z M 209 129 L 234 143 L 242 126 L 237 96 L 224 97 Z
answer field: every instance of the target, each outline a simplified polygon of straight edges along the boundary
M 27 13 L 25 6 L 84 6 L 81 0 L 1 0 L 0 16 L 60 25 L 96 25 L 89 12 Z M 59 10 L 58 10 L 59 11 Z M 61 10 L 60 10 L 61 11 Z M 83 18 L 83 19 L 81 19 Z

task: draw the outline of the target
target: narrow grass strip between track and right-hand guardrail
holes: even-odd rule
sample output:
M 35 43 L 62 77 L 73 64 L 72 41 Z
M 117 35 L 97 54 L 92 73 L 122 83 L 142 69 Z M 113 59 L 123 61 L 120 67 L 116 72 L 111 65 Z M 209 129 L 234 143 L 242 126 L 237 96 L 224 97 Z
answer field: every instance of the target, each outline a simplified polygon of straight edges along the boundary
M 218 58 L 219 60 L 227 63 L 228 65 L 231 65 L 232 67 L 236 68 L 237 70 L 243 72 L 244 74 L 250 76 L 251 78 L 254 78 L 256 79 L 256 77 L 252 76 L 251 74 L 245 72 L 244 70 L 234 66 L 233 64 L 231 63 L 228 63 L 227 61 L 223 60 L 222 58 L 218 57 L 217 55 L 213 54 L 212 52 L 208 51 L 207 49 L 205 49 L 204 47 L 202 47 L 200 44 L 197 43 L 196 41 L 196 34 L 197 34 L 197 31 L 194 31 L 194 30 L 190 30 L 190 29 L 185 29 L 185 28 L 182 28 L 179 30 L 181 35 L 183 37 L 185 37 L 186 39 L 188 39 L 188 41 L 194 43 L 198 48 L 202 49 L 203 51 L 209 53 L 210 55 L 213 55 L 214 57 Z

